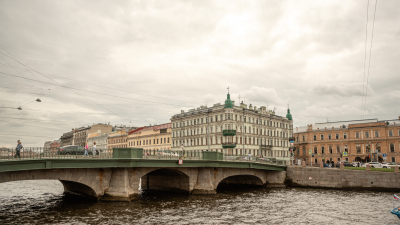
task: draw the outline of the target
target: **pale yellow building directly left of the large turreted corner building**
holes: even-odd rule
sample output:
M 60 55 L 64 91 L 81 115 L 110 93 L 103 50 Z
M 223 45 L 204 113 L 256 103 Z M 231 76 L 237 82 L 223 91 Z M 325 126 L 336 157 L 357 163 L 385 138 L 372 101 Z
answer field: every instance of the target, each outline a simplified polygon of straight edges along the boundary
M 171 150 L 171 123 L 129 132 L 128 147 L 143 148 L 143 152 L 149 155 L 156 155 L 158 150 Z

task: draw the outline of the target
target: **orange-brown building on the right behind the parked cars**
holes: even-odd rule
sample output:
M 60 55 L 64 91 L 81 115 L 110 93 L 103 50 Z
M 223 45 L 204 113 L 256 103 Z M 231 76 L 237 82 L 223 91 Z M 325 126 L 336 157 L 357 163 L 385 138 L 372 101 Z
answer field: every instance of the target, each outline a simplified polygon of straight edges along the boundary
M 294 137 L 295 158 L 307 164 L 400 162 L 400 118 L 319 123 L 296 128 Z

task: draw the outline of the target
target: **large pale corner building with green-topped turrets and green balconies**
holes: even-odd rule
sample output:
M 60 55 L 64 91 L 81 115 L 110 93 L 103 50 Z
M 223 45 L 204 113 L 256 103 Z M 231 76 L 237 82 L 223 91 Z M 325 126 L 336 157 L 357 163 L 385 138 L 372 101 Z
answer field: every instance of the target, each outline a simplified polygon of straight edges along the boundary
M 218 151 L 227 155 L 289 157 L 293 135 L 290 110 L 286 117 L 265 106 L 236 106 L 228 93 L 225 104 L 181 111 L 171 118 L 172 150 Z M 280 151 L 279 151 L 280 150 Z M 287 151 L 282 151 L 287 150 Z

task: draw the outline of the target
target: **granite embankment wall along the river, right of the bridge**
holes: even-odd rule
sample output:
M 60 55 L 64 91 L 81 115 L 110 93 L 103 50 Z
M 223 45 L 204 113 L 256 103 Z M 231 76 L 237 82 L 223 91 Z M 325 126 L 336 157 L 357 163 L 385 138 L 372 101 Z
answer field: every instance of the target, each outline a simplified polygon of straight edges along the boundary
M 400 173 L 288 166 L 289 187 L 400 191 Z

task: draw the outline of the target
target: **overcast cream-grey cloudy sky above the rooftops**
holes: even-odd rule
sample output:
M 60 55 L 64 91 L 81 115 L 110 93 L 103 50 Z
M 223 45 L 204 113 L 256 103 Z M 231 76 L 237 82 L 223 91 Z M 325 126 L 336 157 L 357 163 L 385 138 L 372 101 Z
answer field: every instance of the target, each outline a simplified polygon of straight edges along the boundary
M 289 105 L 294 127 L 396 119 L 400 1 L 378 1 L 373 23 L 375 4 L 0 0 L 0 147 L 168 123 L 228 87 L 236 103 Z

